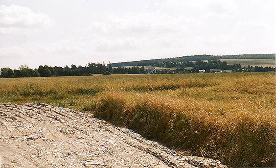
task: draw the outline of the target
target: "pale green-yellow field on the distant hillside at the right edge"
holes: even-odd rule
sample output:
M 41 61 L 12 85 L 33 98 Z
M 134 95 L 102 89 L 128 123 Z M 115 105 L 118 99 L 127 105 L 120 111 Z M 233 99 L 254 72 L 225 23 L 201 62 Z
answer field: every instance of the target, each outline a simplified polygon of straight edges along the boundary
M 272 59 L 223 59 L 220 61 L 226 61 L 229 65 L 240 64 L 273 68 L 276 67 L 275 60 Z

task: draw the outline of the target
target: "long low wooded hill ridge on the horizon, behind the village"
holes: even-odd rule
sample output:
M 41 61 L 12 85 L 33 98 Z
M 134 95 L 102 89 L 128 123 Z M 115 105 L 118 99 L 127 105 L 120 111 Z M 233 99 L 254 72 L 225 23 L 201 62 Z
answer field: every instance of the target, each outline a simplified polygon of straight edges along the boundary
M 196 61 L 196 60 L 220 60 L 220 59 L 275 59 L 275 54 L 240 54 L 240 55 L 192 55 L 174 58 L 161 58 L 141 61 L 129 61 L 112 63 L 111 67 L 123 67 L 123 66 L 137 66 L 151 62 L 184 62 L 184 61 Z M 109 65 L 109 64 L 108 64 Z

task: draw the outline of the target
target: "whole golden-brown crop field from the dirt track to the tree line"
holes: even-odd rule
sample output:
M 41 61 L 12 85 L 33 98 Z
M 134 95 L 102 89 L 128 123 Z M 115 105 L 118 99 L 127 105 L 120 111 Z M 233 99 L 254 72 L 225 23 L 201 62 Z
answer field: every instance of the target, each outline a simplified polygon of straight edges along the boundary
M 94 112 L 183 154 L 234 167 L 275 166 L 274 73 L 0 79 L 0 102 Z

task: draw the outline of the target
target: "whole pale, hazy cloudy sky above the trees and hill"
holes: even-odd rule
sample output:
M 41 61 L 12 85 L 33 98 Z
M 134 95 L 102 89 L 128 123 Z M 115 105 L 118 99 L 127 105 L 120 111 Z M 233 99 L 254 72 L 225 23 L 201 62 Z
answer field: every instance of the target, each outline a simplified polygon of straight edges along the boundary
M 274 0 L 0 0 L 0 68 L 276 52 Z

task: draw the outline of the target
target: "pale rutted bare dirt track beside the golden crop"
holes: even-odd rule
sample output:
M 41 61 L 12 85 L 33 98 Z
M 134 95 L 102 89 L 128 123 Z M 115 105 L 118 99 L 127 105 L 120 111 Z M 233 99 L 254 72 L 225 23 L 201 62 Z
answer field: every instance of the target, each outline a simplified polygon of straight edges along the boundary
M 226 167 L 92 114 L 39 103 L 0 104 L 0 155 L 2 167 Z

